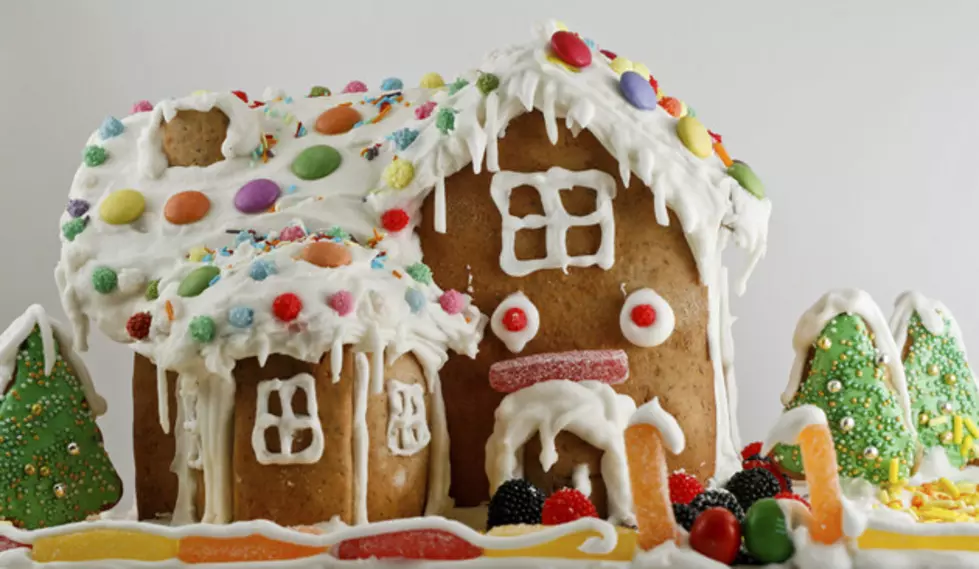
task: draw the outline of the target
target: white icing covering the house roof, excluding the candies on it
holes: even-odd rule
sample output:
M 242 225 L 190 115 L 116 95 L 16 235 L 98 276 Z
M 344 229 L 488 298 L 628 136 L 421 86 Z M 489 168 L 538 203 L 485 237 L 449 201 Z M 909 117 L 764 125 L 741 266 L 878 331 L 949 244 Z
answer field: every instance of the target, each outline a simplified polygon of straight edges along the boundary
M 716 155 L 706 159 L 693 156 L 676 135 L 677 119 L 662 108 L 640 111 L 626 102 L 619 91 L 617 75 L 597 50 L 593 50 L 593 63 L 580 73 L 549 61 L 547 46 L 555 29 L 553 24 L 545 25 L 534 41 L 492 54 L 478 71 L 464 74 L 468 85 L 458 90 L 417 88 L 329 97 L 281 97 L 255 108 L 230 93 L 197 93 L 163 101 L 152 112 L 122 119 L 124 130 L 117 136 L 103 139 L 94 133 L 87 144 L 103 147 L 108 159 L 95 167 L 82 165 L 75 175 L 70 197 L 90 205 L 85 214 L 87 226 L 71 241 L 62 237 L 61 260 L 56 270 L 62 302 L 74 324 L 79 348 L 86 345 L 90 320 L 114 340 L 131 342 L 126 332 L 127 320 L 135 313 L 149 311 L 154 314 L 153 334 L 136 348 L 158 359 L 166 356 L 174 364 L 197 349 L 186 337 L 189 319 L 198 315 L 215 317 L 219 341 L 200 353 L 208 369 L 221 373 L 229 369 L 234 359 L 248 355 L 287 353 L 309 359 L 328 351 L 330 342 L 337 337 L 358 344 L 365 341 L 363 334 L 368 328 L 376 330 L 395 351 L 407 349 L 410 344 L 413 351 L 420 347 L 434 352 L 433 363 L 444 357 L 445 349 L 474 353 L 483 324 L 482 318 L 475 316 L 475 309 L 468 318 L 446 318 L 448 315 L 434 314 L 439 309 L 435 304 L 430 307 L 433 310 L 424 311 L 420 320 L 414 318 L 405 312 L 403 287 L 417 285 L 410 279 L 392 281 L 390 271 L 421 258 L 413 228 L 419 221 L 417 214 L 423 199 L 433 190 L 441 195 L 443 180 L 460 169 L 472 165 L 480 170 L 484 158 L 489 170 L 497 170 L 498 137 L 512 118 L 533 109 L 545 117 L 552 139 L 560 118 L 575 132 L 588 129 L 619 159 L 623 180 L 628 181 L 635 174 L 655 188 L 656 206 L 651 214 L 664 225 L 669 223 L 668 210 L 677 215 L 704 282 L 714 282 L 729 238 L 749 251 L 753 266 L 765 252 L 770 202 L 745 191 L 727 175 Z M 476 86 L 485 73 L 495 74 L 500 81 L 488 95 Z M 419 110 L 426 103 L 429 105 L 425 108 L 434 105 L 427 117 Z M 361 123 L 339 135 L 315 132 L 316 118 L 340 104 L 350 104 L 358 110 L 363 117 Z M 159 147 L 159 121 L 172 118 L 179 109 L 210 108 L 223 110 L 231 121 L 222 146 L 227 159 L 207 168 L 160 168 L 164 157 Z M 442 109 L 451 109 L 455 119 L 454 128 L 447 133 L 437 125 Z M 303 130 L 308 134 L 297 136 Z M 249 137 L 257 133 L 275 137 L 276 144 L 271 148 L 274 156 L 267 162 L 256 155 L 242 156 Z M 253 142 L 257 148 L 261 140 Z M 339 152 L 340 167 L 319 180 L 297 178 L 290 169 L 294 158 L 302 150 L 322 144 Z M 385 168 L 395 160 L 412 164 L 414 170 L 410 183 L 401 189 L 393 189 L 385 181 Z M 275 181 L 282 197 L 269 211 L 240 213 L 233 204 L 236 192 L 258 178 Z M 142 193 L 145 212 L 129 225 L 105 223 L 98 213 L 100 203 L 124 188 Z M 162 215 L 164 205 L 170 196 L 185 190 L 206 194 L 211 209 L 198 223 L 170 224 Z M 446 202 L 436 199 L 436 203 Z M 447 207 L 451 207 L 451 200 Z M 193 249 L 220 251 L 232 246 L 238 230 L 255 230 L 264 235 L 296 223 L 313 232 L 340 227 L 360 243 L 367 243 L 377 235 L 381 214 L 391 208 L 404 209 L 411 216 L 408 228 L 384 235 L 375 249 L 358 249 L 361 252 L 355 256 L 359 257 L 359 264 L 355 265 L 359 268 L 303 267 L 280 271 L 274 279 L 255 281 L 246 278 L 239 271 L 241 267 L 235 265 L 223 268 L 221 280 L 200 296 L 179 299 L 179 306 L 172 291 L 166 290 L 176 287 L 180 276 L 201 264 L 188 262 Z M 439 217 L 436 215 L 429 222 L 438 227 Z M 66 211 L 62 226 L 72 219 Z M 380 233 L 383 235 L 384 231 Z M 384 270 L 364 269 L 370 264 L 367 251 L 384 252 Z M 276 255 L 284 257 L 287 253 Z M 224 259 L 217 260 L 222 267 L 226 264 Z M 94 290 L 92 273 L 99 267 L 116 271 L 117 290 L 109 294 Z M 173 322 L 161 317 L 160 302 L 144 298 L 146 284 L 155 279 L 163 281 L 162 301 L 169 299 L 175 306 Z M 352 329 L 358 332 L 340 326 L 346 321 L 333 317 L 322 293 L 341 283 L 357 290 L 383 289 L 381 296 L 386 304 L 399 305 L 398 317 L 368 321 L 358 311 L 357 317 L 350 319 L 357 321 Z M 297 287 L 311 295 L 303 299 L 303 315 L 315 325 L 306 332 L 296 335 L 273 326 L 274 322 L 266 325 L 270 322 L 267 304 L 252 306 L 257 331 L 251 334 L 256 338 L 264 336 L 261 341 L 243 340 L 231 333 L 222 320 L 233 302 L 270 301 L 283 292 L 300 292 L 294 290 Z M 441 292 L 434 285 L 421 288 L 430 300 Z M 161 322 L 169 325 L 161 327 Z M 405 336 L 406 330 L 413 330 L 411 334 L 415 335 Z

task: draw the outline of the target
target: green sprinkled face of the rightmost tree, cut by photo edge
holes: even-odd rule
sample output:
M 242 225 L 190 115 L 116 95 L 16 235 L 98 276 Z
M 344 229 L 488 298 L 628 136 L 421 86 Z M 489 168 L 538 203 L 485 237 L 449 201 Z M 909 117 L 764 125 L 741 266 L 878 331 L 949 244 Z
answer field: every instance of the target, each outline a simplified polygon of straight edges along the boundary
M 963 467 L 976 459 L 979 394 L 953 322 L 939 318 L 938 333 L 918 312 L 908 319 L 904 373 L 921 445 L 943 448 L 953 466 Z

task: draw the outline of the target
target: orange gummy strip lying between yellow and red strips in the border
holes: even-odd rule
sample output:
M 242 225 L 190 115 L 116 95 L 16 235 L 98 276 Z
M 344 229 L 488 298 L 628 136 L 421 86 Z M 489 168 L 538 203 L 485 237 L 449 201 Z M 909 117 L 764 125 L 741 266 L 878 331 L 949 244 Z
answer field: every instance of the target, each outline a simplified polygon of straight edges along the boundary
M 189 536 L 180 540 L 177 558 L 184 563 L 244 563 L 303 559 L 326 551 L 325 547 L 287 543 L 257 534 L 229 538 Z

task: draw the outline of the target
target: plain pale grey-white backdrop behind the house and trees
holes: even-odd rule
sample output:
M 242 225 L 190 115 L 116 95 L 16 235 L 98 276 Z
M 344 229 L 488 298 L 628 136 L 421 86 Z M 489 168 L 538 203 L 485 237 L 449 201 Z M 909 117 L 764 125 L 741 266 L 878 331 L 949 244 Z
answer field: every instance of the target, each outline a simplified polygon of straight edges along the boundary
M 549 17 L 645 62 L 768 187 L 768 257 L 734 301 L 746 438 L 779 413 L 795 322 L 829 288 L 864 288 L 887 315 L 919 289 L 979 342 L 979 2 L 966 1 L 4 2 L 0 323 L 33 302 L 63 318 L 58 217 L 105 116 L 197 89 L 448 79 Z M 131 355 L 96 333 L 85 358 L 129 479 Z

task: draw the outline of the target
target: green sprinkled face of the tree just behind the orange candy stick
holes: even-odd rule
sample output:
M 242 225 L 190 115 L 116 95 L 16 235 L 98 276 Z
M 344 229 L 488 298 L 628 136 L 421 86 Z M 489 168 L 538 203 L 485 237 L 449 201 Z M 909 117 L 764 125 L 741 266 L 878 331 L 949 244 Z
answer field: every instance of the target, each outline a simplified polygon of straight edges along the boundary
M 885 358 L 863 318 L 847 313 L 831 319 L 809 350 L 806 369 L 786 408 L 816 405 L 826 413 L 840 474 L 881 484 L 890 478 L 894 464 L 897 476 L 907 479 L 915 437 L 889 385 Z M 773 457 L 789 475 L 803 474 L 798 447 L 779 445 Z

